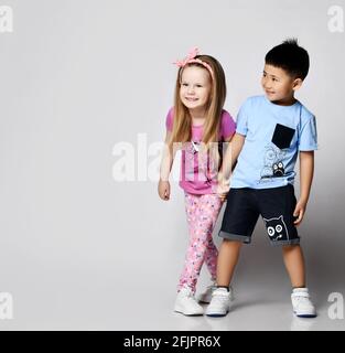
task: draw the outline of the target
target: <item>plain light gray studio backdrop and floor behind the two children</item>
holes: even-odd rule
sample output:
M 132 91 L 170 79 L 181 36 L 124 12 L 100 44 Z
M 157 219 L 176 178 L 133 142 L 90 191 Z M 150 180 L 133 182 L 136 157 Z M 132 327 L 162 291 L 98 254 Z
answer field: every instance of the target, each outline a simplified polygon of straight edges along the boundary
M 14 15 L 13 33 L 0 33 L 0 292 L 12 293 L 14 319 L 0 330 L 345 329 L 327 317 L 328 295 L 345 295 L 345 33 L 327 29 L 344 0 L 0 4 Z M 261 94 L 266 52 L 288 36 L 311 55 L 298 98 L 317 117 L 320 150 L 300 233 L 320 317 L 293 319 L 280 249 L 260 222 L 234 311 L 184 318 L 172 312 L 187 245 L 182 190 L 173 183 L 164 203 L 155 182 L 116 182 L 112 148 L 136 147 L 139 132 L 162 141 L 171 63 L 192 46 L 223 64 L 236 116 Z M 198 289 L 207 284 L 203 271 Z

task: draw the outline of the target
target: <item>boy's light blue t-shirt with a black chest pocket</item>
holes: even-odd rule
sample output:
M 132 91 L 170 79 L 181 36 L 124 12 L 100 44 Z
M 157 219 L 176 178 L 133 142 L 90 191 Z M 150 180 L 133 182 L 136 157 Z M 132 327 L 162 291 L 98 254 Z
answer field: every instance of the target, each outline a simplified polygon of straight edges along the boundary
M 317 149 L 315 117 L 298 100 L 280 106 L 266 96 L 248 98 L 238 113 L 236 132 L 246 140 L 231 178 L 234 189 L 293 184 L 298 152 Z

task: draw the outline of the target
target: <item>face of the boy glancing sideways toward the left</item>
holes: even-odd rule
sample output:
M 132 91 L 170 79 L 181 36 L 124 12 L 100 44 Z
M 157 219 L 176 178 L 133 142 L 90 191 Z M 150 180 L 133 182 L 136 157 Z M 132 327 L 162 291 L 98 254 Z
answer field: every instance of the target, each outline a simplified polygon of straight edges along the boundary
M 294 92 L 302 85 L 302 79 L 291 77 L 283 68 L 266 64 L 261 85 L 270 101 L 291 105 L 294 101 Z

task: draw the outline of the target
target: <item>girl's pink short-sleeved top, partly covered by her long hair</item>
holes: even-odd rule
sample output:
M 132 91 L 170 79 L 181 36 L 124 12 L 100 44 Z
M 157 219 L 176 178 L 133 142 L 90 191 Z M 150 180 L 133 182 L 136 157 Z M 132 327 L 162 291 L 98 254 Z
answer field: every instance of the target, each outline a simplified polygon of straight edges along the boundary
M 174 110 L 168 113 L 165 126 L 172 131 Z M 236 124 L 228 111 L 222 111 L 219 142 L 234 135 Z M 184 143 L 181 158 L 180 186 L 191 194 L 216 193 L 217 173 L 220 165 L 213 162 L 208 153 L 200 152 L 198 145 L 203 137 L 203 126 L 192 126 L 192 141 Z M 219 146 L 222 147 L 222 146 Z M 219 149 L 222 154 L 222 148 Z M 204 156 L 203 156 L 204 154 Z

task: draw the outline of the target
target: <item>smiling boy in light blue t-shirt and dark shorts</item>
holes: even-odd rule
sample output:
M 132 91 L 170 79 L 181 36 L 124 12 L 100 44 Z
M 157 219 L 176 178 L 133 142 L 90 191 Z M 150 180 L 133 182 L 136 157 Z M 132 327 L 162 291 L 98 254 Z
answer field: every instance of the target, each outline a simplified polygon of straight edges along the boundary
M 297 226 L 310 195 L 314 150 L 317 149 L 315 117 L 294 98 L 309 72 L 309 54 L 297 40 L 287 40 L 265 58 L 263 96 L 247 99 L 237 117 L 236 135 L 224 158 L 218 193 L 228 192 L 229 174 L 237 161 L 227 194 L 219 236 L 217 289 L 206 314 L 224 317 L 229 311 L 229 285 L 241 243 L 250 243 L 259 215 L 272 245 L 281 245 L 293 287 L 291 301 L 298 317 L 313 318 L 315 308 L 305 287 L 304 259 Z M 294 196 L 294 164 L 300 157 L 299 201 Z

